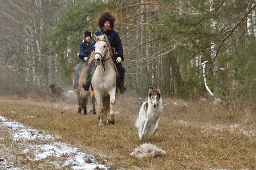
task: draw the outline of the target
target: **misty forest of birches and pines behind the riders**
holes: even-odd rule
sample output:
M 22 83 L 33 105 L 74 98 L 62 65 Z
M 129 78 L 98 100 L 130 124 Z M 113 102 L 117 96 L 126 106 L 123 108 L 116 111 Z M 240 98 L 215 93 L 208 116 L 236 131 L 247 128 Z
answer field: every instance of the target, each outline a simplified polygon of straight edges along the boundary
M 85 30 L 116 18 L 126 95 L 256 99 L 255 0 L 0 0 L 0 95 L 71 90 Z

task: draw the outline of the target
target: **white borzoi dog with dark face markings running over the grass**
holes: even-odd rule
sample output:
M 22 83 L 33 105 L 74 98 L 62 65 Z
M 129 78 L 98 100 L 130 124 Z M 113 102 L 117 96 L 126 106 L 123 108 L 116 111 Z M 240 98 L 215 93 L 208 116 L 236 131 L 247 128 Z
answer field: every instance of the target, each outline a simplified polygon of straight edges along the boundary
M 148 100 L 143 103 L 135 126 L 139 128 L 138 135 L 141 141 L 147 133 L 155 135 L 163 113 L 162 98 L 159 87 L 157 90 L 149 88 Z

